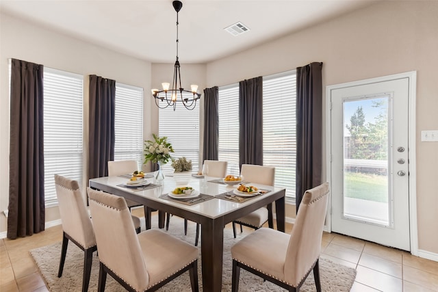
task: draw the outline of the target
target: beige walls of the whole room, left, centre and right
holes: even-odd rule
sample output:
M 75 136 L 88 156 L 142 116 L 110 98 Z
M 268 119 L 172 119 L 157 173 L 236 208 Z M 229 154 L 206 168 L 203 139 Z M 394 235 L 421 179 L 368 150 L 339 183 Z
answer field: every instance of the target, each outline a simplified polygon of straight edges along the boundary
M 419 248 L 438 254 L 438 175 L 435 170 L 438 144 L 420 142 L 422 130 L 438 129 L 435 113 L 438 108 L 437 15 L 438 1 L 378 3 L 216 62 L 181 64 L 181 75 L 184 83 L 196 82 L 201 89 L 283 72 L 310 62 L 324 62 L 324 86 L 417 70 Z M 8 207 L 10 57 L 83 75 L 101 75 L 144 88 L 144 137 L 157 133 L 158 111 L 150 98 L 150 90 L 161 88 L 164 80 L 170 81 L 173 64 L 150 64 L 3 14 L 0 24 L 0 211 Z M 24 40 L 31 40 L 32 46 L 25 46 Z M 325 144 L 323 146 L 325 149 Z M 293 206 L 287 206 L 287 215 L 294 217 Z M 57 218 L 57 210 L 48 210 L 47 221 Z M 5 230 L 5 217 L 0 215 L 0 233 Z

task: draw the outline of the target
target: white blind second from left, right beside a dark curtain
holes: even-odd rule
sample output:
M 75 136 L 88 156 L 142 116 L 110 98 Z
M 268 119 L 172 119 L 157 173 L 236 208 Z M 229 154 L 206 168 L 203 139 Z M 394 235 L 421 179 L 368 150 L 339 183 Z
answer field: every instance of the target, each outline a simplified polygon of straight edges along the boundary
M 143 164 L 143 88 L 116 83 L 114 160 Z

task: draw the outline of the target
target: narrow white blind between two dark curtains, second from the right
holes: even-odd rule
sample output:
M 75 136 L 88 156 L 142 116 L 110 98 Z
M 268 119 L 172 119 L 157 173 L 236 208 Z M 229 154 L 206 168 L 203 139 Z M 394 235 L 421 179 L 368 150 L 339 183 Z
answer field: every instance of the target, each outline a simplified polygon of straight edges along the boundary
M 239 83 L 219 88 L 218 160 L 228 161 L 227 174 L 239 175 Z

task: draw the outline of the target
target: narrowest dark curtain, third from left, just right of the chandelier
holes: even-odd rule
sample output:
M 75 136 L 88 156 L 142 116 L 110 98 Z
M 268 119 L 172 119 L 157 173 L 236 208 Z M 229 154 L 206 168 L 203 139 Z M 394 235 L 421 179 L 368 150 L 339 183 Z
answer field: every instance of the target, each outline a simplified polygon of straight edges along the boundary
M 204 90 L 204 160 L 218 160 L 219 152 L 219 88 Z

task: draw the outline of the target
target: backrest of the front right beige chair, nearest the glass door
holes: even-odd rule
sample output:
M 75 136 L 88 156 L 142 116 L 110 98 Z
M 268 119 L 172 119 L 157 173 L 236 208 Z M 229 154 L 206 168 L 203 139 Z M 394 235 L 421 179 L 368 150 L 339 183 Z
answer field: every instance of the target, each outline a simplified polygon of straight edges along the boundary
M 285 281 L 298 285 L 321 253 L 329 183 L 305 191 L 287 247 Z

